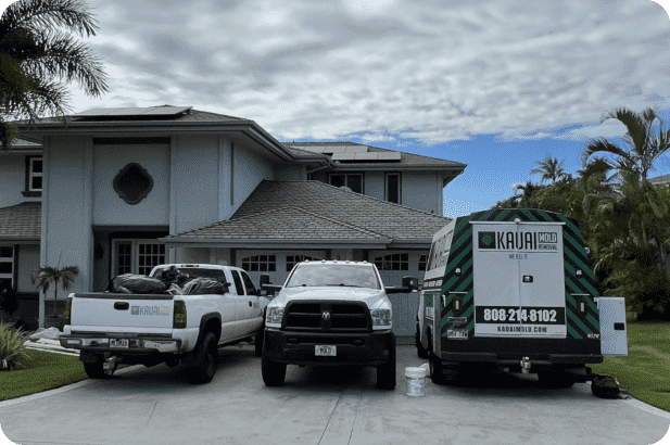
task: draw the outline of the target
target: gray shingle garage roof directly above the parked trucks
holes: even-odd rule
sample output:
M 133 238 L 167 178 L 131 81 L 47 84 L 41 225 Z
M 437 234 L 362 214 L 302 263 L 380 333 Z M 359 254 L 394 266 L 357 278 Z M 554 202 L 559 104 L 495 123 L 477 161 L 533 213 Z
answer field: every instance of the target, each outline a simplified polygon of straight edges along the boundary
M 448 221 L 319 181 L 264 180 L 229 220 L 164 240 L 286 239 L 300 247 L 300 243 L 328 239 L 342 244 L 367 241 L 419 243 L 425 247 Z

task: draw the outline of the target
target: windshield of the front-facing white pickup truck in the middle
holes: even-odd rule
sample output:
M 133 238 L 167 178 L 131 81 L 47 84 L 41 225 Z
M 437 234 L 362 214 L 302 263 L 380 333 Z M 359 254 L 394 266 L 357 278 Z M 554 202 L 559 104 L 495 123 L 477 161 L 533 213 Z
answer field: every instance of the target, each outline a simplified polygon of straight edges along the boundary
M 341 285 L 380 289 L 375 268 L 346 264 L 300 265 L 289 278 L 287 288 Z

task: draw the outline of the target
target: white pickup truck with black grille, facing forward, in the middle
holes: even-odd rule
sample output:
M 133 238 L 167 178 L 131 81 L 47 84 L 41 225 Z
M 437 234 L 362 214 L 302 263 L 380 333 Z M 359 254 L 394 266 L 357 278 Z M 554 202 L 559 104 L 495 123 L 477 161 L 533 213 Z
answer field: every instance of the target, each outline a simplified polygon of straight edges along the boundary
M 417 280 L 384 288 L 374 264 L 351 260 L 303 262 L 283 285 L 261 287 L 279 294 L 267 306 L 261 359 L 263 381 L 283 384 L 287 365 L 374 366 L 377 386 L 395 387 L 395 336 L 388 293 L 416 289 Z

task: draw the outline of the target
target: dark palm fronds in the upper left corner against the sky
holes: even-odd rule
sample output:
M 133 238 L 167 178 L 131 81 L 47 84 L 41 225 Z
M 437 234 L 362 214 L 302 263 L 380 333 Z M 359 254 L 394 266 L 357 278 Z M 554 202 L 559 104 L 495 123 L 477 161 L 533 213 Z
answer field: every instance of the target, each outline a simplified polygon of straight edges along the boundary
M 89 37 L 98 22 L 81 0 L 20 0 L 0 16 L 0 148 L 17 136 L 8 117 L 65 115 L 65 84 L 91 97 L 108 91 L 102 63 L 63 28 Z

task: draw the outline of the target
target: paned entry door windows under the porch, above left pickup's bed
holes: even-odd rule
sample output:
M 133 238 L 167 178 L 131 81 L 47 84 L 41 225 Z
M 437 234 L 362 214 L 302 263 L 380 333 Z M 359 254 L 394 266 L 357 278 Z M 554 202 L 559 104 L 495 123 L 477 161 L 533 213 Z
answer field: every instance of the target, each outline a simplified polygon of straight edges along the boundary
M 160 264 L 165 264 L 165 244 L 153 240 L 114 241 L 114 275 L 149 275 Z

